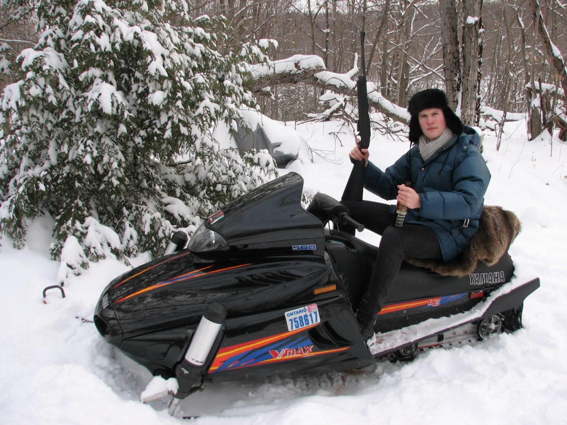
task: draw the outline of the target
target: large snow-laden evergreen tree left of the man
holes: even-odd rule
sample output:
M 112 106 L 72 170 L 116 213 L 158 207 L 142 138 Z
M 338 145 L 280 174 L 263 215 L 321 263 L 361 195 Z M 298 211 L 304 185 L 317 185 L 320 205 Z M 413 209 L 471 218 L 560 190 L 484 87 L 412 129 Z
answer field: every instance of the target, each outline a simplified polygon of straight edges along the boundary
M 256 44 L 220 54 L 222 18 L 192 19 L 184 0 L 50 0 L 38 16 L 40 40 L 0 99 L 0 232 L 16 246 L 49 214 L 52 256 L 75 271 L 155 254 L 175 226 L 275 172 L 269 155 L 211 138 L 255 107 L 242 81 L 265 59 Z

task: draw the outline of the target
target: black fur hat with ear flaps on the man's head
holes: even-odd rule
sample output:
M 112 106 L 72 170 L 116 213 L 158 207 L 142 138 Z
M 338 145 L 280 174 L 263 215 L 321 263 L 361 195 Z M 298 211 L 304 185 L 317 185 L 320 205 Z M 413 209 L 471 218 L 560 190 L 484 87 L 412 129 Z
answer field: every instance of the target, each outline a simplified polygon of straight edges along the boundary
M 451 129 L 453 134 L 460 134 L 463 132 L 463 123 L 460 118 L 449 107 L 449 102 L 445 92 L 438 88 L 428 88 L 417 92 L 409 99 L 408 112 L 411 115 L 409 120 L 409 141 L 417 143 L 420 136 L 423 134 L 421 131 L 419 113 L 424 109 L 439 108 L 443 111 L 447 127 Z

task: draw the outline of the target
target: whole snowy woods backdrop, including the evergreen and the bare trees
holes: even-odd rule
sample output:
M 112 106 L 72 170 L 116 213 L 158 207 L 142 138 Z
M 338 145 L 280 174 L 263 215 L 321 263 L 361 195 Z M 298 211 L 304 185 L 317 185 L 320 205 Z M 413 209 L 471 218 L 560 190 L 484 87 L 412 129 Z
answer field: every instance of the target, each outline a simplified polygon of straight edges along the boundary
M 366 32 L 364 63 L 375 130 L 403 139 L 409 97 L 439 87 L 465 124 L 500 128 L 501 134 L 506 120 L 527 116 L 528 138 L 556 128 L 561 140 L 567 138 L 567 7 L 560 0 L 1 4 L 0 88 L 9 90 L 2 95 L 0 231 L 22 246 L 25 219 L 50 214 L 58 240 L 52 256 L 74 271 L 109 253 L 157 252 L 180 218 L 197 226 L 204 211 L 273 175 L 265 158 L 219 149 L 204 135 L 219 121 L 234 124 L 241 117 L 238 108 L 257 108 L 284 122 L 337 119 L 354 126 L 360 31 Z M 146 61 L 126 32 L 120 45 L 101 42 L 116 35 L 117 22 L 120 28 L 130 25 L 128 36 L 146 44 L 155 34 L 159 49 L 154 43 L 145 51 Z M 195 46 L 206 54 L 195 55 Z M 172 52 L 184 54 L 185 65 L 168 68 Z M 64 65 L 53 66 L 55 57 L 64 58 Z M 267 71 L 253 73 L 256 61 Z M 163 62 L 163 75 L 156 74 L 156 62 Z M 288 66 L 277 67 L 280 63 Z M 183 85 L 187 82 L 179 75 L 187 70 L 200 76 L 203 87 Z M 141 80 L 132 83 L 140 74 Z M 117 76 L 133 80 L 120 86 Z M 138 92 L 128 94 L 133 86 Z M 175 94 L 183 104 L 166 103 Z M 107 97 L 115 102 L 112 111 L 105 109 Z M 205 103 L 209 115 L 196 115 Z M 61 120 L 69 112 L 73 125 L 69 115 Z M 132 120 L 142 112 L 144 119 Z M 87 145 L 92 152 L 85 155 Z M 83 156 L 72 158 L 77 152 Z M 259 171 L 248 171 L 254 167 Z M 132 199 L 140 182 L 147 190 Z M 111 199 L 112 205 L 104 210 L 101 199 Z M 184 216 L 171 214 L 177 201 L 190 210 Z M 65 258 L 65 247 L 76 257 L 78 246 L 84 255 Z

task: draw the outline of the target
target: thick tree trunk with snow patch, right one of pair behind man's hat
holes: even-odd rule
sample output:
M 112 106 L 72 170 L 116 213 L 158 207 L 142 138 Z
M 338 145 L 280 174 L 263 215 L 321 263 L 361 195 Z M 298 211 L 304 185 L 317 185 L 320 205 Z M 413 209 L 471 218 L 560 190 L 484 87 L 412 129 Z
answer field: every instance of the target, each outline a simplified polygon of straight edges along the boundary
M 480 14 L 483 0 L 463 0 L 463 95 L 461 120 L 467 125 L 478 124 L 480 74 Z

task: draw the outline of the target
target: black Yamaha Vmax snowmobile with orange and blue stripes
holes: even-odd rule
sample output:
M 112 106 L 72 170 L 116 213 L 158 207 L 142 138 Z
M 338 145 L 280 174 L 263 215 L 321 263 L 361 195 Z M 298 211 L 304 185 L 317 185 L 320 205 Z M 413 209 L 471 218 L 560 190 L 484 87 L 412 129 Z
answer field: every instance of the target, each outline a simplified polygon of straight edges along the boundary
M 354 312 L 378 248 L 341 231 L 363 227 L 338 201 L 318 194 L 304 209 L 302 191 L 293 172 L 251 190 L 101 294 L 105 341 L 177 380 L 170 414 L 210 381 L 365 368 L 522 326 L 539 279 L 512 281 L 508 254 L 462 278 L 404 262 L 376 338 L 363 341 Z

